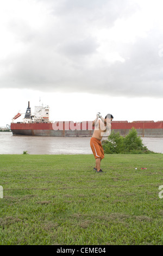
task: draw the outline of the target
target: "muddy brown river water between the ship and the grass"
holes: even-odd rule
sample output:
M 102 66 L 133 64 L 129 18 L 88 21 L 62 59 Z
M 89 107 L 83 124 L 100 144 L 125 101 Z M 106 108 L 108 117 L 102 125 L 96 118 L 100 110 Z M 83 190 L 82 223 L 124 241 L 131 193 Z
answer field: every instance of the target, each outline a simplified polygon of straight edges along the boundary
M 149 150 L 163 154 L 162 138 L 142 138 Z M 90 138 L 40 137 L 0 132 L 0 154 L 32 155 L 92 154 Z

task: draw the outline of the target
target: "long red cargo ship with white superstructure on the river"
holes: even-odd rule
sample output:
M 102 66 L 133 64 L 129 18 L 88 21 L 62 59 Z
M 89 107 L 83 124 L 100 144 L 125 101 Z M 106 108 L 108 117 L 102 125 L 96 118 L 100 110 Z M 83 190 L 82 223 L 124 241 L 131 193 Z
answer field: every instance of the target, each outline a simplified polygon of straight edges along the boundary
M 49 106 L 36 106 L 32 114 L 28 102 L 22 122 L 15 120 L 22 114 L 17 113 L 11 122 L 13 135 L 52 136 L 52 137 L 91 137 L 95 127 L 92 121 L 49 121 Z M 126 136 L 134 127 L 140 137 L 163 137 L 163 121 L 112 121 L 111 131 Z M 105 135 L 105 137 L 108 135 Z

